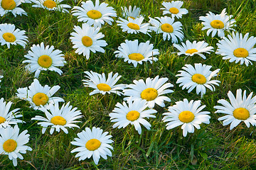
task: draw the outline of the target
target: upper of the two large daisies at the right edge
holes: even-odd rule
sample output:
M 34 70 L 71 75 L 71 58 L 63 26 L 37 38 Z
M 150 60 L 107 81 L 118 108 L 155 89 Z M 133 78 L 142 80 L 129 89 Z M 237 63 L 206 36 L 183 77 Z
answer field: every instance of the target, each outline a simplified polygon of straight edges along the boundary
M 242 37 L 241 33 L 233 32 L 232 36 L 228 35 L 228 38 L 224 37 L 223 40 L 219 40 L 216 54 L 224 56 L 223 60 L 230 59 L 229 62 L 245 63 L 246 66 L 252 64 L 250 60 L 256 61 L 256 48 L 254 48 L 256 38 L 248 37 L 249 33 Z

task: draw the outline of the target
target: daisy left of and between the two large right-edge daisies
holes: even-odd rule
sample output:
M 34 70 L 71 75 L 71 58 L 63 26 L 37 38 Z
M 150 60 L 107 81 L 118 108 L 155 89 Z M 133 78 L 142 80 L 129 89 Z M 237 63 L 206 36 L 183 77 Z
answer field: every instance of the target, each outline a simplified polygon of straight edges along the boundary
M 206 64 L 195 64 L 193 67 L 191 64 L 185 64 L 185 67 L 182 67 L 183 70 L 178 71 L 180 74 L 177 74 L 176 77 L 178 80 L 176 84 L 180 84 L 183 89 L 188 89 L 188 93 L 193 91 L 196 87 L 196 94 L 201 92 L 201 98 L 203 94 L 206 94 L 206 87 L 210 89 L 210 91 L 215 91 L 215 86 L 219 86 L 218 80 L 210 80 L 212 77 L 217 77 L 220 69 L 215 69 L 213 72 L 210 71 L 212 66 Z

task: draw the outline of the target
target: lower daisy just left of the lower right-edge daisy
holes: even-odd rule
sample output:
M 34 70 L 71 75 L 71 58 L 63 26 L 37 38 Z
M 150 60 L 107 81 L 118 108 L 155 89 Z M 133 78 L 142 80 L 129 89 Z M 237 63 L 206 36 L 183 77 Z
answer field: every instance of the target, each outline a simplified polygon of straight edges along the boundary
M 190 101 L 184 98 L 183 101 L 177 101 L 176 105 L 170 106 L 167 113 L 164 113 L 163 120 L 168 122 L 166 129 L 170 130 L 179 125 L 183 130 L 183 136 L 186 137 L 188 132 L 193 133 L 195 128 L 200 129 L 201 123 L 210 123 L 210 112 L 202 111 L 206 106 L 201 106 L 201 101 Z M 195 127 L 195 128 L 194 128 Z

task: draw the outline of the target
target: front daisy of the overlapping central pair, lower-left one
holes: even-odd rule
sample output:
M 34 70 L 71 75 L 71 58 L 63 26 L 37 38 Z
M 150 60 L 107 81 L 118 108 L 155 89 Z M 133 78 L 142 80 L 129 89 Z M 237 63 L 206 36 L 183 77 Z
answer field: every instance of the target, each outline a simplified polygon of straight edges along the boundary
M 134 125 L 135 130 L 140 135 L 142 133 L 141 123 L 147 130 L 150 130 L 151 125 L 144 118 L 156 118 L 155 115 L 151 114 L 157 111 L 154 109 L 145 110 L 147 108 L 146 100 L 128 100 L 127 103 L 117 103 L 112 113 L 110 113 L 110 120 L 114 122 L 113 128 L 125 128 L 131 124 Z

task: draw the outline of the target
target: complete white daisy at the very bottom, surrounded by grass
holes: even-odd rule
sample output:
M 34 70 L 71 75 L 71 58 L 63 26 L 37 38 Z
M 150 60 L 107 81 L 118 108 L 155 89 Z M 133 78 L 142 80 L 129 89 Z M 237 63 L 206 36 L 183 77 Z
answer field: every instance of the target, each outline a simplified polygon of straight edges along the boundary
M 70 142 L 72 145 L 78 146 L 73 149 L 71 153 L 78 152 L 75 157 L 80 157 L 79 161 L 93 158 L 95 164 L 98 164 L 100 157 L 107 159 L 107 156 L 112 157 L 113 149 L 110 144 L 114 141 L 110 140 L 111 135 L 107 135 L 108 132 L 103 132 L 100 128 L 93 127 L 85 128 L 82 132 L 78 133 L 78 138 L 75 137 L 75 141 Z

